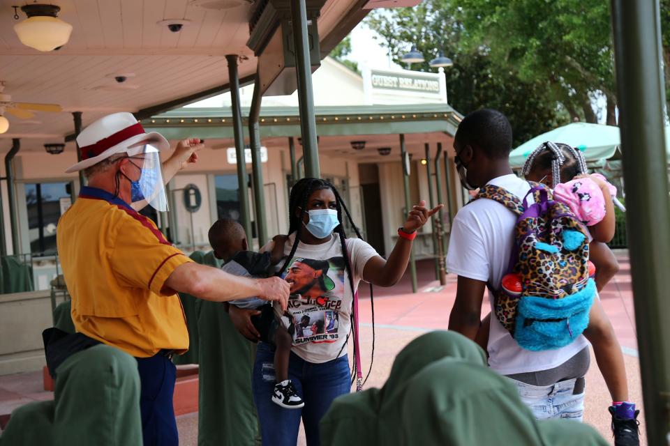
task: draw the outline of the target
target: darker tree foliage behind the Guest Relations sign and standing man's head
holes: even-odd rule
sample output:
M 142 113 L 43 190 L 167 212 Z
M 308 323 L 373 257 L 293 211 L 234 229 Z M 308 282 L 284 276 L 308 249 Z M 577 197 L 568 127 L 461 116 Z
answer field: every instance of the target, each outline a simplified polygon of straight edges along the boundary
M 471 44 L 459 3 L 424 0 L 415 8 L 375 12 L 367 24 L 396 63 L 411 45 L 417 46 L 426 61 L 412 64 L 412 70 L 434 72 L 429 62 L 444 51 L 454 61 L 454 66 L 445 68 L 449 104 L 462 114 L 481 108 L 500 110 L 512 123 L 515 145 L 568 123 L 569 115 L 553 98 L 546 80 L 522 78 L 491 57 L 489 48 Z

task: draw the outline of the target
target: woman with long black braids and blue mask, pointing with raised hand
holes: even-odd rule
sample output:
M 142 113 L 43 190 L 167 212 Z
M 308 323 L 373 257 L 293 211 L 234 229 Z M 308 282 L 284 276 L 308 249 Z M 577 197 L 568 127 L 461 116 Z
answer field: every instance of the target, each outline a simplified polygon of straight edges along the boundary
M 352 305 L 359 282 L 364 280 L 377 286 L 396 284 L 407 268 L 417 229 L 440 208 L 442 205 L 427 209 L 424 201 L 413 206 L 399 228 L 392 253 L 383 259 L 362 240 L 334 185 L 327 180 L 303 178 L 293 186 L 289 200 L 289 234 L 285 238 L 286 257 L 280 262 L 278 274 L 291 286 L 288 312 L 293 322 L 308 320 L 311 329 L 293 332 L 289 383 L 275 383 L 274 346 L 258 344 L 253 393 L 264 445 L 295 445 L 301 418 L 307 444 L 320 444 L 321 418 L 332 401 L 348 393 L 352 385 L 347 342 L 352 325 L 357 326 L 356 321 L 352 321 Z M 344 218 L 354 228 L 357 238 L 347 238 Z M 279 239 L 274 240 L 277 241 L 262 250 L 272 249 Z M 336 286 L 336 281 L 343 282 L 343 286 Z M 240 316 L 245 311 L 231 307 L 231 312 L 237 313 L 231 317 L 248 318 Z M 337 325 L 332 324 L 331 329 L 325 330 L 326 323 L 334 318 Z M 285 390 L 283 387 L 287 384 L 290 389 Z M 297 393 L 304 400 L 304 408 L 287 410 L 272 403 L 271 397 L 282 392 Z

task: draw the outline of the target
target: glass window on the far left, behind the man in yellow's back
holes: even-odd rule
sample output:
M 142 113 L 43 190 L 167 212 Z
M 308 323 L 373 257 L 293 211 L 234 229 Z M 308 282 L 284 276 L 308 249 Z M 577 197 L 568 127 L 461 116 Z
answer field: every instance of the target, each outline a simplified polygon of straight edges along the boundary
M 61 209 L 72 203 L 70 183 L 33 183 L 25 185 L 30 252 L 50 256 L 57 252 L 56 226 Z

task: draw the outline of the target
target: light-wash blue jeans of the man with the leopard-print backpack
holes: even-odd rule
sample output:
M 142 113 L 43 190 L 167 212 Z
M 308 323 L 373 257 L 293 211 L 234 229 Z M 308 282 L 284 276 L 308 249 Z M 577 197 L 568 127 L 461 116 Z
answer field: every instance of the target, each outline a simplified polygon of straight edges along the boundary
M 533 412 L 537 420 L 565 418 L 582 421 L 585 392 L 574 394 L 575 378 L 546 386 L 530 385 L 512 378 L 508 379 L 516 385 L 521 401 Z

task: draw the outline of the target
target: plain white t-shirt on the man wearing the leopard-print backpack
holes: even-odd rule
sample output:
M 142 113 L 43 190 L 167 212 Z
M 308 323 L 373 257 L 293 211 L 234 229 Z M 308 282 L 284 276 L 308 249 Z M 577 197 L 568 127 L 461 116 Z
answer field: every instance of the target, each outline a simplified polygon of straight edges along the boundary
M 489 184 L 504 187 L 520 199 L 530 185 L 515 175 L 494 178 Z M 507 273 L 509 255 L 514 247 L 516 214 L 500 203 L 479 199 L 464 206 L 454 218 L 447 253 L 447 270 L 468 279 L 500 285 Z M 493 295 L 489 293 L 491 311 Z M 558 367 L 588 345 L 583 336 L 563 348 L 529 351 L 516 344 L 495 316 L 489 332 L 489 365 L 502 375 L 520 374 Z

